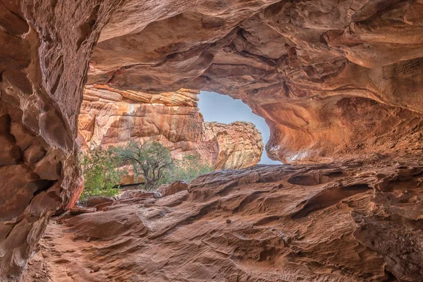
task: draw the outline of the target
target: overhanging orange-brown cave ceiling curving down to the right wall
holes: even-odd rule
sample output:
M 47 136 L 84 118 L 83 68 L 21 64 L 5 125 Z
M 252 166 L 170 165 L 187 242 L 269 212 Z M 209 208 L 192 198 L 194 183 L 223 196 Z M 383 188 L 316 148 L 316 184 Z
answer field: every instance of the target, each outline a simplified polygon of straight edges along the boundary
M 242 99 L 269 124 L 269 157 L 284 162 L 423 149 L 422 1 L 196 4 L 112 38 L 115 18 L 89 84 Z

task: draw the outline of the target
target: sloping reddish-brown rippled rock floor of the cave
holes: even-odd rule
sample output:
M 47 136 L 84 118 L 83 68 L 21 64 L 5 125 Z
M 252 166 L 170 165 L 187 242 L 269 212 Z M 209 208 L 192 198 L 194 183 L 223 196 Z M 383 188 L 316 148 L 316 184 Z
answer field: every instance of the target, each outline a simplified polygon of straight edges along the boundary
M 375 159 L 219 171 L 53 221 L 21 281 L 422 281 L 423 161 Z

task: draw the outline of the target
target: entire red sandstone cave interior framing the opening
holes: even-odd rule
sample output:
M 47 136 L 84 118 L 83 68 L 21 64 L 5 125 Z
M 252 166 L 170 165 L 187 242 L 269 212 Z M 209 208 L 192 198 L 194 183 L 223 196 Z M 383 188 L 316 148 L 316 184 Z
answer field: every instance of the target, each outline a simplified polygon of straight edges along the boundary
M 0 14 L 1 281 L 422 281 L 422 0 L 1 0 Z M 81 114 L 199 91 L 264 118 L 283 164 L 57 219 L 84 188 Z

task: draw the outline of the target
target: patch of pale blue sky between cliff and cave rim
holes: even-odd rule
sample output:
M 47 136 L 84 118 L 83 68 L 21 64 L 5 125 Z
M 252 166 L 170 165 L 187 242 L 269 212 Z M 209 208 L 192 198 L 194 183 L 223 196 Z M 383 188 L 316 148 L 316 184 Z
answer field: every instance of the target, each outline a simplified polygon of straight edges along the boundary
M 214 92 L 202 91 L 198 95 L 200 101 L 198 106 L 205 121 L 217 121 L 219 123 L 231 123 L 233 121 L 250 121 L 254 123 L 262 133 L 263 143 L 269 140 L 270 131 L 263 118 L 252 114 L 249 106 L 241 100 L 232 99 L 229 96 L 216 94 Z M 281 164 L 279 161 L 272 161 L 267 157 L 266 152 L 262 154 L 259 164 Z

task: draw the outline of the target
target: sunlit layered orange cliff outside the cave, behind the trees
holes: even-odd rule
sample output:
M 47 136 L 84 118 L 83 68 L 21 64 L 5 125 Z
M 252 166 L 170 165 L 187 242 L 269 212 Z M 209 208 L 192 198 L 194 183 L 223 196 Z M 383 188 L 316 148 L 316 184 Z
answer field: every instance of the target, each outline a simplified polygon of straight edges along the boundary
M 197 91 L 160 94 L 87 87 L 79 116 L 82 145 L 122 146 L 150 138 L 171 149 L 173 157 L 200 154 L 216 169 L 245 168 L 260 161 L 262 135 L 252 123 L 204 122 Z

